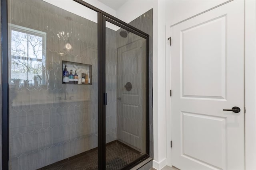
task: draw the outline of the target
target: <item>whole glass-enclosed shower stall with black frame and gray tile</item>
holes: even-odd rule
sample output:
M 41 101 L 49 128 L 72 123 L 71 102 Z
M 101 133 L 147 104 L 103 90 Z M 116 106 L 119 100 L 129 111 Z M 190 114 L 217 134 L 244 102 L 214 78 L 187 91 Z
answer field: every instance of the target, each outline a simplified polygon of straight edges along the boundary
M 147 33 L 82 0 L 2 0 L 1 14 L 4 169 L 119 170 L 150 156 Z

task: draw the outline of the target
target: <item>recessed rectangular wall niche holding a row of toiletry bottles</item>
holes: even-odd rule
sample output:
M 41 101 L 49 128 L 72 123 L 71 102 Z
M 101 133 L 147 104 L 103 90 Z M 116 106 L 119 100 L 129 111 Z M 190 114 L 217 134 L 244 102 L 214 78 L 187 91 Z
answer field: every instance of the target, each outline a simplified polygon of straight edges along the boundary
M 62 61 L 62 84 L 92 85 L 92 65 Z

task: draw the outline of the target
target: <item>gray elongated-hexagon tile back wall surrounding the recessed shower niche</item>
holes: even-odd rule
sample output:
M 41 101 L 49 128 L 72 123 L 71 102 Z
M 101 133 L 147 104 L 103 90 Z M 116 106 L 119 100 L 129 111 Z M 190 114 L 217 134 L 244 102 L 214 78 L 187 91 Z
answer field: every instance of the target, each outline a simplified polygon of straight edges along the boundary
M 33 170 L 97 147 L 97 23 L 41 0 L 9 0 L 8 5 L 9 23 L 46 32 L 45 83 L 10 83 L 10 167 Z M 61 32 L 69 33 L 72 51 L 64 50 Z M 108 55 L 115 56 L 116 44 L 110 46 Z M 92 64 L 92 85 L 62 84 L 62 60 Z M 109 101 L 111 106 L 114 100 Z M 114 111 L 106 115 L 113 119 L 106 127 L 108 141 L 116 139 Z

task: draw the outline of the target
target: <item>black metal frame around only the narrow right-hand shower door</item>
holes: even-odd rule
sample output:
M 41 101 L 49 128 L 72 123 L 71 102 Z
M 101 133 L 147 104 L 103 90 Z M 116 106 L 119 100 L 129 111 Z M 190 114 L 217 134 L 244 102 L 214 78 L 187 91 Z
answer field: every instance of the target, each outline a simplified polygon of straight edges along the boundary
M 105 105 L 105 97 L 106 97 L 106 74 L 105 74 L 105 61 L 106 61 L 106 21 L 118 26 L 118 27 L 121 27 L 127 31 L 130 31 L 131 33 L 134 33 L 142 38 L 144 38 L 146 40 L 146 154 L 144 154 L 143 156 L 141 156 L 140 158 L 134 160 L 131 164 L 127 165 L 126 167 L 122 168 L 122 169 L 131 169 L 133 166 L 135 166 L 136 164 L 139 164 L 140 162 L 142 162 L 143 160 L 147 159 L 149 157 L 149 35 L 146 36 L 140 32 L 137 32 L 135 31 L 134 29 L 132 29 L 131 25 L 129 24 L 122 24 L 118 21 L 114 21 L 112 18 L 108 18 L 107 16 L 104 16 L 103 14 L 99 14 L 98 13 L 98 21 L 102 21 L 103 22 L 98 22 L 98 27 L 100 27 L 102 29 L 103 27 L 103 31 L 99 31 L 98 32 L 98 45 L 102 45 L 102 50 L 99 48 L 98 46 L 98 59 L 101 59 L 102 57 L 102 65 L 98 65 L 98 68 L 102 68 L 102 77 L 99 77 L 99 78 L 102 78 L 103 80 L 103 95 L 102 96 L 102 99 L 100 99 L 100 92 L 98 93 L 98 98 L 99 98 L 99 101 L 103 101 L 104 103 L 104 107 L 103 107 L 103 112 L 102 114 L 100 112 L 98 112 L 98 132 L 100 132 L 102 130 L 102 134 L 99 135 L 99 138 L 98 138 L 98 149 L 99 149 L 99 155 L 98 155 L 98 160 L 99 160 L 99 169 L 105 169 L 106 167 L 106 105 Z M 102 25 L 101 25 L 102 23 Z M 131 26 L 131 27 L 128 27 Z M 102 35 L 99 35 L 99 34 L 102 34 Z M 99 54 L 101 51 L 102 54 Z M 98 63 L 99 64 L 99 63 Z M 98 69 L 98 71 L 100 71 L 100 69 Z M 100 75 L 100 74 L 98 74 Z M 100 84 L 100 82 L 99 82 Z M 100 87 L 98 87 L 100 88 Z M 100 107 L 100 106 L 99 106 Z M 98 107 L 98 109 L 99 109 Z M 102 125 L 102 127 L 100 127 Z M 102 137 L 102 139 L 100 139 Z M 102 152 L 100 152 L 100 146 L 103 147 L 102 148 Z M 102 155 L 100 155 L 102 154 Z M 102 162 L 100 162 L 100 160 L 102 160 Z M 100 168 L 101 166 L 101 168 Z

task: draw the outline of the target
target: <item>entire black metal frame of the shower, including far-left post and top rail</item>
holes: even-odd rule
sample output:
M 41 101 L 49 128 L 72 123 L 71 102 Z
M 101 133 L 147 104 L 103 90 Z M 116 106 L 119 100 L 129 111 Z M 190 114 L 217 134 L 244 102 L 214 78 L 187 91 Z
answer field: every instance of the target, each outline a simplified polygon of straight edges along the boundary
M 130 169 L 149 157 L 149 35 L 128 23 L 84 2 L 73 0 L 98 13 L 98 169 L 106 168 L 106 21 L 146 39 L 146 154 L 124 167 Z M 8 4 L 1 0 L 1 102 L 2 102 L 2 170 L 9 169 L 9 60 L 8 60 Z

